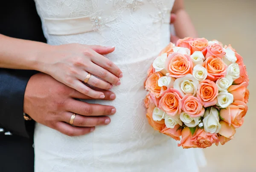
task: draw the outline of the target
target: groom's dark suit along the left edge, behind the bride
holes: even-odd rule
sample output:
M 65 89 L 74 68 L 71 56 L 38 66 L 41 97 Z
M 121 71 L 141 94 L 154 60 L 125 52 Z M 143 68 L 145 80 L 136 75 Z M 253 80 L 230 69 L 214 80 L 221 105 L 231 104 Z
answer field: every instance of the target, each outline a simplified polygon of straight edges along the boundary
M 0 34 L 46 42 L 33 0 L 4 0 L 0 8 Z M 0 172 L 33 172 L 34 122 L 23 118 L 26 84 L 35 71 L 0 69 Z

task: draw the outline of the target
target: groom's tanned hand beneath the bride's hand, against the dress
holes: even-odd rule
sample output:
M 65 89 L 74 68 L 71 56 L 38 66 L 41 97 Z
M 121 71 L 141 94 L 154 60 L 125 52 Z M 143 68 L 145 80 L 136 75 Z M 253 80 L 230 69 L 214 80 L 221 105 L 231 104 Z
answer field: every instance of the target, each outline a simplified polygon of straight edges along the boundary
M 103 91 L 105 100 L 114 100 L 115 95 Z M 56 129 L 65 135 L 79 136 L 92 132 L 95 126 L 110 123 L 116 109 L 113 106 L 84 103 L 76 99 L 92 99 L 72 89 L 49 75 L 33 75 L 24 96 L 24 112 L 33 120 Z M 73 126 L 69 124 L 73 113 L 77 114 Z

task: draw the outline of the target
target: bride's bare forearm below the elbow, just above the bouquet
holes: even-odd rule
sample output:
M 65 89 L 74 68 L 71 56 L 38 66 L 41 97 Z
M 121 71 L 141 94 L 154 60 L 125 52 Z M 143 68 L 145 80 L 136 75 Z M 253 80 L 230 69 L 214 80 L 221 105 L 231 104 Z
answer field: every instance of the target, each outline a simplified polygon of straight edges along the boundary
M 198 37 L 195 27 L 190 20 L 189 14 L 184 9 L 176 11 L 174 27 L 177 36 L 180 38 Z

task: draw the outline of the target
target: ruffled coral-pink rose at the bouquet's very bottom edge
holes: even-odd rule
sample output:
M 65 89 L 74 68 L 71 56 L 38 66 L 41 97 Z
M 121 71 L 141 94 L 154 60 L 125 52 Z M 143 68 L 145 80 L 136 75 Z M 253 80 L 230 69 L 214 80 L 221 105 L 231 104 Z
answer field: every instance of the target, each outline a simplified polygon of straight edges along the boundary
M 204 129 L 198 129 L 196 135 L 191 139 L 191 142 L 194 143 L 199 148 L 207 148 L 212 146 L 215 143 L 218 146 L 219 139 L 217 134 L 211 134 L 204 131 Z

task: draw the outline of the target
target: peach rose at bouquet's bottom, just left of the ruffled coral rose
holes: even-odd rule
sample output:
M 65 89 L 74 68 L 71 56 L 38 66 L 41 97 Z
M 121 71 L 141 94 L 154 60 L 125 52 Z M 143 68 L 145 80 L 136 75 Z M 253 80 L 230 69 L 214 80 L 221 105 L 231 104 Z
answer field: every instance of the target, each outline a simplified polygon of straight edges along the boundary
M 178 146 L 182 146 L 184 149 L 197 148 L 197 146 L 191 142 L 191 139 L 193 138 L 193 136 L 196 135 L 197 131 L 198 131 L 198 128 L 195 129 L 195 133 L 194 133 L 194 135 L 192 135 L 189 127 L 185 127 L 181 132 L 182 138 L 181 138 L 180 143 L 178 143 Z

